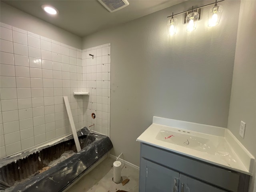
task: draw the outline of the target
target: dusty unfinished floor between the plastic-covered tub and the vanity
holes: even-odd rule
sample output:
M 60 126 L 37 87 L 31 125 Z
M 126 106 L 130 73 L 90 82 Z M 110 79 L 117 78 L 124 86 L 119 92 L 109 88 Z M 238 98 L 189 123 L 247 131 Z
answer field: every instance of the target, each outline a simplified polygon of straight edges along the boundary
M 123 180 L 128 178 L 130 181 L 124 186 L 121 183 L 115 184 L 112 181 L 114 161 L 112 158 L 106 158 L 90 173 L 68 189 L 67 192 L 116 192 L 117 190 L 138 192 L 139 170 L 122 163 L 121 176 Z

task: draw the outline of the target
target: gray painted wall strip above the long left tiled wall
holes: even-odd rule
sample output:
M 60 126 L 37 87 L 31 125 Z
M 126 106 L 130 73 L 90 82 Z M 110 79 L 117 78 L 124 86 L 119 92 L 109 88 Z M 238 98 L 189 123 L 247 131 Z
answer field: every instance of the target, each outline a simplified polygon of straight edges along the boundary
M 82 38 L 1 2 L 2 23 L 81 49 Z

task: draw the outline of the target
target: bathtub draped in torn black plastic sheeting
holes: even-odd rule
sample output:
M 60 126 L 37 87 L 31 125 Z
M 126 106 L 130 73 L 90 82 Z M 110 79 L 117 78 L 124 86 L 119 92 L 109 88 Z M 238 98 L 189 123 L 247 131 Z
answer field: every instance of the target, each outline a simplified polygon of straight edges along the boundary
M 82 149 L 80 152 L 76 151 L 71 135 L 54 144 L 2 158 L 1 192 L 63 191 L 88 172 L 113 147 L 107 136 L 90 133 L 86 127 L 77 133 Z M 70 150 L 76 153 L 55 166 L 48 167 L 50 162 Z

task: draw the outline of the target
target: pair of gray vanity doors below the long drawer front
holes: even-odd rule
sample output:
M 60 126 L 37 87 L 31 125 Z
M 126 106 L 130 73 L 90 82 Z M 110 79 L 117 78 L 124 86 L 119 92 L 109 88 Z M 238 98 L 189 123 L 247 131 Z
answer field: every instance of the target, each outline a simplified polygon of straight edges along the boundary
M 226 192 L 144 158 L 140 160 L 140 192 Z

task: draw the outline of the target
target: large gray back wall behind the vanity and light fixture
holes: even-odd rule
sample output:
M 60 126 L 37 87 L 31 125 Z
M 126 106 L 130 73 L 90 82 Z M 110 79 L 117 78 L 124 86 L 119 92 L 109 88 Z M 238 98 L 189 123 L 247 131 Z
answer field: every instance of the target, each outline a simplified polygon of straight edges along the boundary
M 224 1 L 220 25 L 208 28 L 210 7 L 194 32 L 167 16 L 208 1 L 186 1 L 83 38 L 82 48 L 111 42 L 112 154 L 139 165 L 136 138 L 160 116 L 227 127 L 240 1 Z M 232 15 L 232 16 L 231 16 Z

